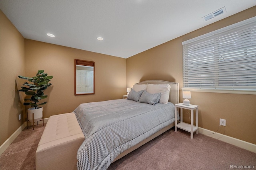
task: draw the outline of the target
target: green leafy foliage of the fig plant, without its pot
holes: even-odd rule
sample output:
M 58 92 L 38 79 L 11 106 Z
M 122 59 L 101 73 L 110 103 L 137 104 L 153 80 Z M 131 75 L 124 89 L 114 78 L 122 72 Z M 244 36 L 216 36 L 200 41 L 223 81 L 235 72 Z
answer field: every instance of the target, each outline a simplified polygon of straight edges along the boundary
M 25 92 L 26 95 L 31 96 L 28 99 L 24 99 L 24 101 L 30 100 L 31 102 L 24 102 L 25 106 L 30 105 L 31 107 L 38 107 L 40 105 L 46 104 L 46 102 L 43 102 L 41 104 L 37 104 L 39 100 L 45 99 L 48 96 L 44 95 L 44 90 L 46 90 L 49 86 L 52 84 L 49 83 L 50 80 L 53 78 L 53 76 L 48 76 L 47 73 L 44 73 L 44 70 L 38 70 L 38 73 L 36 76 L 30 78 L 30 77 L 24 77 L 24 76 L 18 76 L 19 78 L 28 80 L 31 83 L 25 82 L 23 85 L 27 87 L 21 87 L 22 89 L 18 90 L 20 92 Z

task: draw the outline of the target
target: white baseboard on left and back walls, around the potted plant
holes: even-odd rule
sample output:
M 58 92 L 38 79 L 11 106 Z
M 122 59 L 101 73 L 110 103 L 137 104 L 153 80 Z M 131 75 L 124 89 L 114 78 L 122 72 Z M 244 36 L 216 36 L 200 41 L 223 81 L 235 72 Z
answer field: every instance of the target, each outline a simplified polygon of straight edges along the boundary
M 44 123 L 47 123 L 49 118 L 44 118 Z M 42 124 L 43 121 L 38 121 L 38 124 Z M 28 125 L 32 125 L 31 122 L 28 122 Z M 22 130 L 27 127 L 27 122 L 25 121 L 1 146 L 0 146 L 0 155 L 11 145 L 11 143 L 18 137 Z

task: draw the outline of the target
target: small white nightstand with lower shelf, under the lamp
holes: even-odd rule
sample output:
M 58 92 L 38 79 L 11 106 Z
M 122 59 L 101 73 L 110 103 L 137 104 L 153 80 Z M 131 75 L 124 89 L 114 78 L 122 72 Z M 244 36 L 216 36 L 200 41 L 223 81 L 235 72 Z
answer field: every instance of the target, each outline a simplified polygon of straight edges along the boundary
M 177 124 L 177 113 L 179 112 L 180 108 L 180 123 Z M 190 109 L 191 112 L 191 124 L 183 122 L 183 109 Z M 194 126 L 194 109 L 196 109 L 196 126 Z M 197 105 L 184 105 L 183 103 L 179 103 L 175 105 L 175 131 L 177 131 L 177 127 L 188 131 L 191 133 L 190 138 L 193 139 L 193 133 L 196 131 L 198 134 L 198 106 Z

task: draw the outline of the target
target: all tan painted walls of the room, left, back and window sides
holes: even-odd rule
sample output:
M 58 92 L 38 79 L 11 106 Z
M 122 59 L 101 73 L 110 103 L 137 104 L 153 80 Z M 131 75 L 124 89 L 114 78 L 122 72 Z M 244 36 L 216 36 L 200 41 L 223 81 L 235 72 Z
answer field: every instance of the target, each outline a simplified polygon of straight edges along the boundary
M 73 111 L 78 104 L 122 98 L 127 87 L 148 79 L 179 82 L 182 87 L 182 41 L 255 16 L 256 7 L 126 59 L 25 39 L 0 11 L 0 145 L 25 121 L 15 79 L 34 76 L 39 69 L 53 75 L 45 93 L 45 117 Z M 95 62 L 95 94 L 74 96 L 74 59 Z M 25 64 L 26 61 L 26 64 Z M 127 67 L 127 69 L 126 69 Z M 127 73 L 126 73 L 127 72 Z M 126 79 L 127 78 L 127 79 Z M 126 82 L 127 81 L 127 82 Z M 180 98 L 182 101 L 182 98 Z M 256 144 L 256 96 L 192 92 L 199 105 L 199 126 Z M 185 120 L 188 115 L 185 114 Z

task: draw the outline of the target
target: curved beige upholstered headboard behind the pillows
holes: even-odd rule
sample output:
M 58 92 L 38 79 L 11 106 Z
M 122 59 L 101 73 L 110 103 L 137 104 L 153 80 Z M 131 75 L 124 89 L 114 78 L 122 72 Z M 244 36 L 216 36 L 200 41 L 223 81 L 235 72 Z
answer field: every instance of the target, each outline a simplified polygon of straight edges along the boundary
M 145 80 L 136 84 L 169 84 L 171 86 L 169 102 L 172 102 L 173 104 L 179 103 L 179 83 L 167 82 L 163 80 Z

